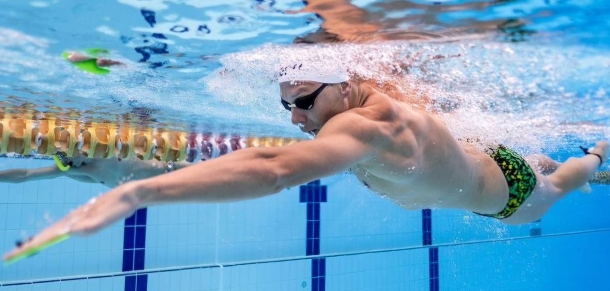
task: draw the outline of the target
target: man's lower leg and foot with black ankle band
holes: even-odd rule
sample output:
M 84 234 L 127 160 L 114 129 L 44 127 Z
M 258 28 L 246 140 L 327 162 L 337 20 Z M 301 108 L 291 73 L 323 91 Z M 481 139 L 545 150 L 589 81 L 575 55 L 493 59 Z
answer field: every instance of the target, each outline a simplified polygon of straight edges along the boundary
M 606 162 L 606 159 L 608 159 L 608 143 L 597 142 L 591 153 L 599 154 Z M 548 180 L 556 188 L 556 191 L 564 196 L 589 181 L 598 167 L 600 167 L 600 159 L 595 155 L 570 157 L 565 163 L 559 165 L 554 173 L 548 175 Z

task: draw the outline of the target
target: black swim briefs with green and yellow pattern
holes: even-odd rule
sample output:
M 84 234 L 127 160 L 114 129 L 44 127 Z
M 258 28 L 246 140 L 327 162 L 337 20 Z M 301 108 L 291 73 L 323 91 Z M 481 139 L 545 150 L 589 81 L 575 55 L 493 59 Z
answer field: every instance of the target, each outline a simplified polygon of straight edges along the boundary
M 493 160 L 498 164 L 504 178 L 508 183 L 508 203 L 506 207 L 497 214 L 478 214 L 486 217 L 503 219 L 511 216 L 525 202 L 536 187 L 536 173 L 529 167 L 519 154 L 506 146 L 499 145 L 492 154 Z

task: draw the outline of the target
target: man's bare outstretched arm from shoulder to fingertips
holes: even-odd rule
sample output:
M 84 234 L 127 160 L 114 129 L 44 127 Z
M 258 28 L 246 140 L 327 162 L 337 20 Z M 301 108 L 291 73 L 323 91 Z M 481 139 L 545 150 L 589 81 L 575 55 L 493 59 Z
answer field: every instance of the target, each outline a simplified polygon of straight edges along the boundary
M 343 113 L 329 120 L 314 140 L 278 148 L 240 149 L 155 178 L 128 182 L 73 210 L 4 258 L 65 235 L 91 234 L 140 207 L 236 201 L 278 193 L 367 160 L 375 154 L 378 136 L 377 124 L 354 113 Z

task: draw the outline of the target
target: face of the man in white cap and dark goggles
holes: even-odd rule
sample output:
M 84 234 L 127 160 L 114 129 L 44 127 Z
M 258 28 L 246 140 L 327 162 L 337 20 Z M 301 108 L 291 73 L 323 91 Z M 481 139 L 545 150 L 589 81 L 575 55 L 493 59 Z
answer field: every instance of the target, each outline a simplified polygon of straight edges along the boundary
M 322 83 L 313 81 L 282 82 L 279 90 L 282 100 L 294 104 L 296 99 L 315 92 Z M 292 107 L 292 124 L 299 126 L 301 131 L 316 135 L 326 121 L 348 109 L 350 85 L 331 84 L 321 90 L 311 109 Z

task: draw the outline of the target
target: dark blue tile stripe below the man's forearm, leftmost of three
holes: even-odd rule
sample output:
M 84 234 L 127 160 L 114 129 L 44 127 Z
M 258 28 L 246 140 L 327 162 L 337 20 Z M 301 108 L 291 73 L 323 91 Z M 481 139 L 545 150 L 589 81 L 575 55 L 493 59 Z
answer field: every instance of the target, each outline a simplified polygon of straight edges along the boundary
M 146 208 L 138 209 L 134 215 L 125 218 L 123 235 L 123 271 L 144 270 L 146 247 Z M 125 291 L 146 291 L 148 275 L 125 277 Z

